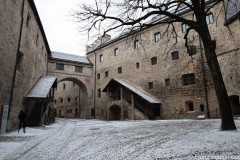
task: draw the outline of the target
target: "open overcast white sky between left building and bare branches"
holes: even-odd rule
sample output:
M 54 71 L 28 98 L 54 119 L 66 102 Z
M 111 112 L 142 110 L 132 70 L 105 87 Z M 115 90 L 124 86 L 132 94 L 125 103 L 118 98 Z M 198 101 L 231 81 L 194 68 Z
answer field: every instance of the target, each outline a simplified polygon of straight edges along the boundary
M 82 0 L 34 0 L 51 51 L 85 56 L 87 35 L 70 16 Z M 87 0 L 88 2 L 92 0 Z

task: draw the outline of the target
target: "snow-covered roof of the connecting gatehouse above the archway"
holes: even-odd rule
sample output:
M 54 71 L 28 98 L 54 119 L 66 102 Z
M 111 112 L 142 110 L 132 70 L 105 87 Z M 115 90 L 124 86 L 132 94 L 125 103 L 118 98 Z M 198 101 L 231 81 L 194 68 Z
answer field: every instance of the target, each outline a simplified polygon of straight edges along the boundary
M 52 52 L 51 59 L 91 64 L 91 62 L 88 60 L 87 57 L 73 55 L 73 54 L 67 54 L 67 53 L 61 53 L 61 52 Z

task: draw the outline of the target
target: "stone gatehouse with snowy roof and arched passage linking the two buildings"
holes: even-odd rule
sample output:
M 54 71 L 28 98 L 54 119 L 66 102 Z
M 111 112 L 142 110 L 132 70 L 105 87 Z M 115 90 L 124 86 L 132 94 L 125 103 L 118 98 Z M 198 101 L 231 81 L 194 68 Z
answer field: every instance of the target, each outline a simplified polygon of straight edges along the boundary
M 86 57 L 52 52 L 48 75 L 58 77 L 54 96 L 58 117 L 91 118 L 92 68 Z

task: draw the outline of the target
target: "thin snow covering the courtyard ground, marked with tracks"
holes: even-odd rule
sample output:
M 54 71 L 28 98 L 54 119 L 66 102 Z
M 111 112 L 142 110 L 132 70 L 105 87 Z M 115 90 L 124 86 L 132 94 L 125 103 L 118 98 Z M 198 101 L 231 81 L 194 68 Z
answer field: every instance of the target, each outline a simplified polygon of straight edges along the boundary
M 101 121 L 57 119 L 52 125 L 0 136 L 0 159 L 240 159 L 238 131 L 220 120 Z

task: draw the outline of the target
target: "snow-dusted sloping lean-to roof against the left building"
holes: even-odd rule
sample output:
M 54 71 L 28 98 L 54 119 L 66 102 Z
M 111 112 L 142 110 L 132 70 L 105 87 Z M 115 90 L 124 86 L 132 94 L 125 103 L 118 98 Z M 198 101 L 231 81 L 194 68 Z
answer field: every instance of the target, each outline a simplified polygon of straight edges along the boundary
M 28 92 L 28 94 L 25 96 L 25 98 L 47 98 L 49 91 L 56 82 L 57 77 L 55 76 L 40 77 Z

